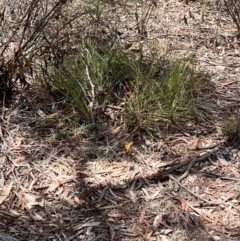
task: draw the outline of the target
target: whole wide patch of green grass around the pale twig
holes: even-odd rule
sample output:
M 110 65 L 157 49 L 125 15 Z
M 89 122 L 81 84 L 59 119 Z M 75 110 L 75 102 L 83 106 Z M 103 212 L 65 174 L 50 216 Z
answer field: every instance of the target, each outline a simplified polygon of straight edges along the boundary
M 49 83 L 86 120 L 97 121 L 99 110 L 111 105 L 119 107 L 125 127 L 153 131 L 160 123 L 194 118 L 200 111 L 204 83 L 192 61 L 142 58 L 120 47 L 87 43 L 66 56 L 62 67 L 52 66 Z

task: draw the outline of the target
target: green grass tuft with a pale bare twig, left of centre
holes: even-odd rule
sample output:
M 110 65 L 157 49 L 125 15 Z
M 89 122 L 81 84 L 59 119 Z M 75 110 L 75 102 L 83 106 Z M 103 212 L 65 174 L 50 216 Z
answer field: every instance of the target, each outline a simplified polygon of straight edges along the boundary
M 89 45 L 84 52 L 79 49 L 74 56 L 64 57 L 58 65 L 60 67 L 51 67 L 50 84 L 72 103 L 85 120 L 90 119 L 89 104 L 95 100 L 96 90 L 106 88 L 103 83 L 106 61 Z

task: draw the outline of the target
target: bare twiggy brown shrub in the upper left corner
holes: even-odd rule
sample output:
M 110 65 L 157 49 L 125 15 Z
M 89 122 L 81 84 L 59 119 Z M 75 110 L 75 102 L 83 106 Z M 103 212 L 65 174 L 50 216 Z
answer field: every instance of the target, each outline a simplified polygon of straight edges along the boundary
M 35 57 L 44 53 L 43 33 L 48 34 L 67 1 L 1 1 L 0 98 L 11 102 L 14 89 L 33 75 Z M 20 84 L 20 85 L 19 85 Z

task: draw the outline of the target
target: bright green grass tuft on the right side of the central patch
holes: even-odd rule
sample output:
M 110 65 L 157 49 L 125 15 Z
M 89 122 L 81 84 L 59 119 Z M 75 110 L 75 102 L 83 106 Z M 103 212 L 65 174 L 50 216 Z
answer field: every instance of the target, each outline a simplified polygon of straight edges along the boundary
M 128 126 L 155 130 L 157 123 L 193 118 L 202 81 L 190 67 L 191 59 L 169 64 L 163 75 L 155 76 L 159 66 L 140 75 L 123 113 Z

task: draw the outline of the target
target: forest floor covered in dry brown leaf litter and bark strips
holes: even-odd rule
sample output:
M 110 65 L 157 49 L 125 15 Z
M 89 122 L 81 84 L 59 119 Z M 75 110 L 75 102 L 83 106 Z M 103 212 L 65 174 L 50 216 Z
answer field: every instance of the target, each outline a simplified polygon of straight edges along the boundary
M 239 112 L 235 26 L 220 1 L 168 0 L 147 30 L 157 48 L 195 55 L 214 114 L 139 133 L 127 150 L 128 137 L 104 125 L 61 125 L 68 117 L 30 89 L 1 123 L 1 232 L 18 240 L 240 240 L 240 149 L 218 125 L 223 106 Z

